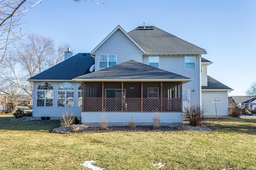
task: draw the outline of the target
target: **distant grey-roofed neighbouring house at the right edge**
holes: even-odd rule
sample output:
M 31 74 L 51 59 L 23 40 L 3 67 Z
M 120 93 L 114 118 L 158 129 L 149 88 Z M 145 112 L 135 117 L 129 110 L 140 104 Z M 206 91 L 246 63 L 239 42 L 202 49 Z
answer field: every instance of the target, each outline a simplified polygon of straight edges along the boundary
M 233 101 L 239 108 L 246 108 L 249 110 L 256 110 L 256 97 L 255 96 L 232 96 Z

